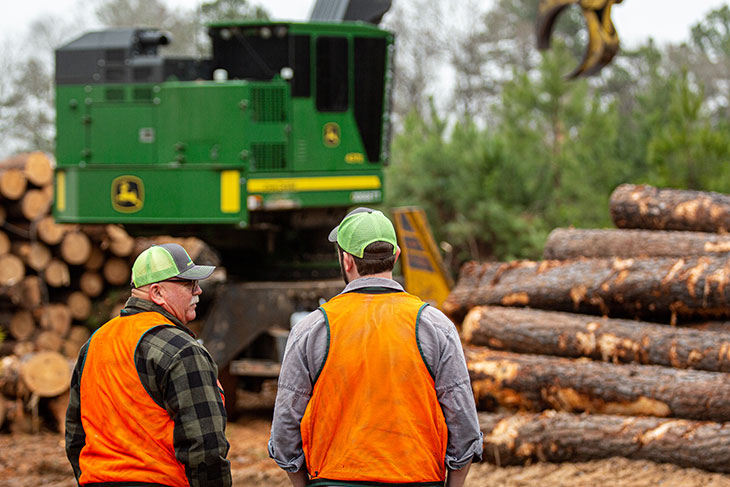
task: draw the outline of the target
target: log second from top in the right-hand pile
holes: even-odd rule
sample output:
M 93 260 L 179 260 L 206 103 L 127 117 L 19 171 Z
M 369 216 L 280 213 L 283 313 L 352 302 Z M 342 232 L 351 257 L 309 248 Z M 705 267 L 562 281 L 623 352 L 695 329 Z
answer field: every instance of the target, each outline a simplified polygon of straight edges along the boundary
M 556 228 L 543 250 L 546 260 L 578 257 L 727 257 L 730 235 L 662 230 Z

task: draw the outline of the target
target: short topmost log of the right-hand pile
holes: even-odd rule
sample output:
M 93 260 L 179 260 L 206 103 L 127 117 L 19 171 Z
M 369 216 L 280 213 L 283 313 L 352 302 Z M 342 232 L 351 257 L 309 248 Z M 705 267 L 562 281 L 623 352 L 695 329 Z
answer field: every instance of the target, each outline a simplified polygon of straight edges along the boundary
M 619 228 L 730 231 L 730 196 L 622 184 L 611 194 L 611 218 Z

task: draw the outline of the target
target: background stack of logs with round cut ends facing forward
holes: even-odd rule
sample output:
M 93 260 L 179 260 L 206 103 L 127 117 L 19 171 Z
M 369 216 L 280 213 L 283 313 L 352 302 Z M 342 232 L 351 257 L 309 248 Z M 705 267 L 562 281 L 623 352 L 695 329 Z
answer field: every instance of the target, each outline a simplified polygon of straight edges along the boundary
M 218 263 L 195 238 L 135 239 L 119 225 L 57 224 L 52 201 L 47 155 L 0 160 L 0 430 L 37 431 L 44 411 L 50 427 L 62 428 L 78 351 L 118 314 L 142 250 L 174 241 L 193 259 Z

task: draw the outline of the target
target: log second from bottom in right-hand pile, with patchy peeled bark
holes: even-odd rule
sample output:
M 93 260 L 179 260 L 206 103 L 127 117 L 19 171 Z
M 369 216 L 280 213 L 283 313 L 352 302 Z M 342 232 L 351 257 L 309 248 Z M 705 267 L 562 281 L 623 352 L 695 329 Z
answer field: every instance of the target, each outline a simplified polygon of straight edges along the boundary
M 730 421 L 730 381 L 722 372 L 474 348 L 465 355 L 481 410 L 505 406 Z

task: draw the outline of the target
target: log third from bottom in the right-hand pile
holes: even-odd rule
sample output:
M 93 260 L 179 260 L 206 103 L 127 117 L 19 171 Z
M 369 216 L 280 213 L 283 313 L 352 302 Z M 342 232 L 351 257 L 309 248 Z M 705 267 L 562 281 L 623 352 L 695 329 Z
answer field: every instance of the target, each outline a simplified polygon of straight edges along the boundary
M 464 319 L 462 336 L 471 345 L 517 353 L 730 372 L 730 332 L 478 306 Z

